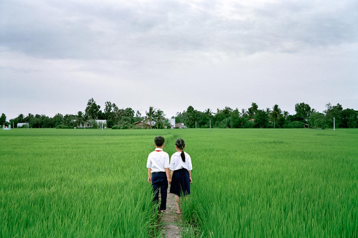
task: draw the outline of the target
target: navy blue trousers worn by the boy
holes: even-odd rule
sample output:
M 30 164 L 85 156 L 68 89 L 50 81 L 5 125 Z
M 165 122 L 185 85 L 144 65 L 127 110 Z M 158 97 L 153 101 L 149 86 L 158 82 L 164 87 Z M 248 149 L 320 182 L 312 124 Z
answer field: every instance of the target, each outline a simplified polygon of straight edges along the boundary
M 153 186 L 153 193 L 154 203 L 159 203 L 159 188 L 160 188 L 160 206 L 159 210 L 165 210 L 166 209 L 166 194 L 168 191 L 168 180 L 166 179 L 165 172 L 157 172 L 152 173 L 152 186 Z

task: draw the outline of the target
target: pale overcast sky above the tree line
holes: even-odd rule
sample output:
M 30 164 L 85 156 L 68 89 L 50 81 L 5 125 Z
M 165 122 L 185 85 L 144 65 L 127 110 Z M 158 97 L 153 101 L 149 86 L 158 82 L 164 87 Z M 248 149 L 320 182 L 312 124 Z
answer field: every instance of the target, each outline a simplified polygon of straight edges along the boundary
M 357 22 L 357 0 L 1 0 L 0 113 L 358 110 Z

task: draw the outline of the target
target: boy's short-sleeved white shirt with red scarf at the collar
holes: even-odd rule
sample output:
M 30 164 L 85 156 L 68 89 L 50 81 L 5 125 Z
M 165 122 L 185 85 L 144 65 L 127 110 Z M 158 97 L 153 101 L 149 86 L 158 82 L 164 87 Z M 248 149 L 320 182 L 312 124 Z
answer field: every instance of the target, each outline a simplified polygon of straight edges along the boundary
M 169 168 L 169 155 L 161 148 L 155 148 L 155 151 L 148 155 L 147 168 L 151 168 L 152 173 L 165 172 Z

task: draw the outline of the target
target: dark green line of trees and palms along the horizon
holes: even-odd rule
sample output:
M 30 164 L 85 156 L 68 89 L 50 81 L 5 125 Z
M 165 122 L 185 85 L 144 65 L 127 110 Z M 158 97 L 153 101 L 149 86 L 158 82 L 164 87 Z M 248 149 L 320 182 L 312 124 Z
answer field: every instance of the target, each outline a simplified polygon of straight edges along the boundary
M 295 114 L 290 115 L 287 111 L 282 111 L 279 105 L 275 104 L 272 108 L 259 109 L 253 102 L 251 107 L 232 109 L 224 107 L 217 108 L 213 112 L 210 108 L 204 111 L 195 110 L 188 106 L 187 110 L 177 112 L 175 116 L 176 123 L 184 123 L 189 128 L 332 128 L 333 118 L 335 118 L 335 127 L 337 128 L 357 128 L 358 111 L 346 108 L 342 105 L 326 104 L 323 112 L 318 112 L 311 108 L 307 103 L 301 102 L 295 105 Z M 142 116 L 139 111 L 134 112 L 130 107 L 119 108 L 115 103 L 107 101 L 104 110 L 93 100 L 89 99 L 84 110 L 77 114 L 62 115 L 57 113 L 54 117 L 48 117 L 44 114 L 19 114 L 18 117 L 6 121 L 6 115 L 1 114 L 0 125 L 17 123 L 29 123 L 30 128 L 73 128 L 82 125 L 91 125 L 100 127 L 96 120 L 106 120 L 106 127 L 128 129 L 135 128 L 134 122 L 144 121 L 152 128 L 170 127 L 169 119 L 160 109 L 149 107 L 149 110 Z M 27 125 L 26 125 L 27 127 Z

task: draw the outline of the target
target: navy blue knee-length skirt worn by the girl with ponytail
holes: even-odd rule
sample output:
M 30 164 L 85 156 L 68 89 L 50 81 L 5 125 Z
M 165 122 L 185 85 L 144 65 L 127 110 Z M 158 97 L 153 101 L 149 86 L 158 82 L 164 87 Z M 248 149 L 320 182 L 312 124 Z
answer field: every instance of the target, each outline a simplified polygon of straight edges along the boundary
M 171 177 L 170 193 L 174 193 L 176 196 L 181 197 L 190 194 L 190 180 L 189 172 L 185 168 L 174 170 Z

